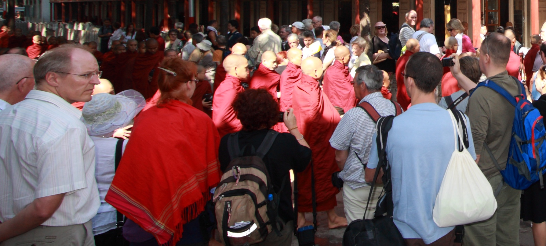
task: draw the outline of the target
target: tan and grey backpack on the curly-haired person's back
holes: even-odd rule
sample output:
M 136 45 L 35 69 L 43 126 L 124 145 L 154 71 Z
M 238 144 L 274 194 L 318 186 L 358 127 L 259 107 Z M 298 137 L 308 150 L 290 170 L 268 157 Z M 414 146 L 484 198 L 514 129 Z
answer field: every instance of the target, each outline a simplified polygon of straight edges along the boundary
M 251 144 L 242 150 L 239 148 L 238 132 L 228 137 L 232 161 L 224 170 L 214 194 L 218 231 L 225 245 L 246 246 L 263 242 L 272 231 L 281 236 L 282 228 L 277 224 L 280 194 L 275 193 L 262 160 L 277 135 L 278 132 L 270 130 L 256 151 Z M 251 148 L 251 155 L 242 156 L 247 147 Z M 286 176 L 280 192 L 284 182 Z

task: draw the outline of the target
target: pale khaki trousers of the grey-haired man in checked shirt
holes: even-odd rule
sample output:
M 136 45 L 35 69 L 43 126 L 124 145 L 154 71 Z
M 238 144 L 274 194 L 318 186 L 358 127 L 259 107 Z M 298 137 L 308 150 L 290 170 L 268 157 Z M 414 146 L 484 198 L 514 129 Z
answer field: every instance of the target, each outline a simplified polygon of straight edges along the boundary
M 364 210 L 370 195 L 371 186 L 364 186 L 358 189 L 352 189 L 346 183 L 343 184 L 343 210 L 345 210 L 345 217 L 347 218 L 347 224 L 353 220 L 364 218 Z M 370 205 L 366 211 L 366 219 L 373 219 L 375 214 L 375 208 L 379 195 L 383 190 L 383 185 L 375 185 L 373 187 L 372 197 L 370 199 Z

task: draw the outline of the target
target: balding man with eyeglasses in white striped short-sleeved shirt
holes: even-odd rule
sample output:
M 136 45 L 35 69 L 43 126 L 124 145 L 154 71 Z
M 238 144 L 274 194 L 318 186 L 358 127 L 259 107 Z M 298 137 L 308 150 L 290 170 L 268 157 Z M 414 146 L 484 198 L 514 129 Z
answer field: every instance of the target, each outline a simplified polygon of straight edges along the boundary
M 91 100 L 97 60 L 63 45 L 40 57 L 34 77 L 37 90 L 0 112 L 0 245 L 92 246 L 95 150 L 70 103 Z

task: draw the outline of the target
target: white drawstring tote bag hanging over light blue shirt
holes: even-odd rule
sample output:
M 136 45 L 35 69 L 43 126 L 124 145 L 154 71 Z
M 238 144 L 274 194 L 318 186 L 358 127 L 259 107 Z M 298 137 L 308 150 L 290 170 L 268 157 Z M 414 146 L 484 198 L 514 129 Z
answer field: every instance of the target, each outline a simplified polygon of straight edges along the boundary
M 465 225 L 491 218 L 497 209 L 497 200 L 489 181 L 462 143 L 462 126 L 448 110 L 455 132 L 455 151 L 451 155 L 446 174 L 432 211 L 432 219 L 440 227 Z M 463 115 L 466 125 L 466 118 Z

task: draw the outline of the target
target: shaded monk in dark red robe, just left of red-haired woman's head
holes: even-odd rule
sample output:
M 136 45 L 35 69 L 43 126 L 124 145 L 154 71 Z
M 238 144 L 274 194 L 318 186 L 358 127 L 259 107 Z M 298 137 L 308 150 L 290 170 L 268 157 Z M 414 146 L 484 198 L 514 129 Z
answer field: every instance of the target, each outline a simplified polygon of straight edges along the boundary
M 146 53 L 136 57 L 133 65 L 133 88 L 149 99 L 157 91 L 157 76 L 155 71 L 163 60 L 163 52 L 158 51 L 155 39 L 146 40 Z

